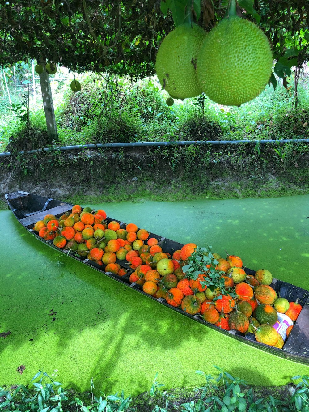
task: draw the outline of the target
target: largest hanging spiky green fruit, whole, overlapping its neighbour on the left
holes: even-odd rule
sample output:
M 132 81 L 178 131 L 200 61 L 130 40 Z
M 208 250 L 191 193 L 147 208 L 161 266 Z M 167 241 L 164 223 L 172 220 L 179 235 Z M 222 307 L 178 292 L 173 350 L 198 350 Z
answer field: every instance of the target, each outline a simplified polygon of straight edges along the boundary
M 273 56 L 265 34 L 252 22 L 223 19 L 205 37 L 197 56 L 197 79 L 216 103 L 240 106 L 265 89 Z

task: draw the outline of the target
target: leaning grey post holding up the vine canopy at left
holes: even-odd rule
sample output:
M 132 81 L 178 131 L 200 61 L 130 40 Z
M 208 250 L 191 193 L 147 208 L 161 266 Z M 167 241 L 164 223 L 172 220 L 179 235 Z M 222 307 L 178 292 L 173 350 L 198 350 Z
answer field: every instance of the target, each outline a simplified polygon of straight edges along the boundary
M 43 61 L 40 63 L 44 67 L 43 73 L 40 74 L 40 84 L 41 84 L 46 126 L 47 126 L 48 141 L 49 143 L 52 143 L 53 140 L 58 142 L 58 132 L 57 132 L 57 126 L 56 126 L 52 90 L 50 88 L 50 83 L 49 83 L 49 75 L 45 70 L 45 63 Z

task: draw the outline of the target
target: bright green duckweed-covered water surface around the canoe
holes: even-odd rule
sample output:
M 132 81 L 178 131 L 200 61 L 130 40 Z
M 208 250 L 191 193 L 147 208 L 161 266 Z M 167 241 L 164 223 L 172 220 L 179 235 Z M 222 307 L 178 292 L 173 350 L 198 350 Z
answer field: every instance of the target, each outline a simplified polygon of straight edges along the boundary
M 208 243 L 223 257 L 226 249 L 250 269 L 309 289 L 308 205 L 309 195 L 91 206 L 180 243 Z M 309 375 L 307 365 L 225 336 L 58 253 L 11 211 L 0 211 L 0 224 L 0 332 L 11 332 L 0 338 L 0 385 L 27 384 L 44 370 L 82 391 L 93 377 L 96 390 L 128 395 L 149 390 L 156 372 L 166 387 L 201 384 L 195 370 L 215 374 L 213 365 L 257 385 Z

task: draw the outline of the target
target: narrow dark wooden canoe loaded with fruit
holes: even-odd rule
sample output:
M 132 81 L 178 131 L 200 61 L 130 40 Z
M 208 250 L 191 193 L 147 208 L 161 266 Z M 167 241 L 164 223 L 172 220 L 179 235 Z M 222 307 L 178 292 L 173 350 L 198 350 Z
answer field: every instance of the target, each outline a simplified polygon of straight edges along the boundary
M 56 249 L 59 253 L 66 253 L 71 258 L 78 260 L 81 264 L 87 265 L 94 270 L 100 272 L 101 274 L 104 273 L 106 276 L 114 279 L 115 281 L 121 282 L 126 286 L 136 290 L 138 293 L 142 293 L 143 295 L 147 296 L 149 299 L 156 300 L 160 304 L 169 307 L 171 310 L 177 311 L 179 314 L 183 316 L 187 316 L 191 318 L 195 322 L 202 323 L 206 325 L 208 328 L 212 328 L 218 330 L 220 333 L 225 335 L 229 335 L 230 337 L 237 339 L 241 342 L 249 344 L 251 346 L 258 347 L 259 349 L 265 350 L 269 353 L 272 353 L 277 356 L 281 356 L 283 358 L 288 358 L 293 361 L 297 361 L 300 363 L 308 364 L 309 365 L 309 292 L 308 290 L 299 288 L 297 286 L 291 285 L 290 283 L 283 282 L 279 279 L 273 279 L 273 282 L 270 286 L 276 290 L 276 293 L 279 294 L 281 297 L 285 297 L 289 302 L 295 302 L 298 298 L 298 302 L 302 305 L 302 311 L 298 316 L 293 329 L 286 339 L 286 342 L 282 349 L 277 349 L 272 346 L 268 346 L 262 343 L 259 343 L 255 340 L 255 337 L 252 333 L 247 333 L 246 335 L 241 334 L 236 330 L 223 330 L 215 325 L 207 323 L 204 321 L 201 316 L 192 316 L 190 314 L 185 313 L 181 309 L 171 307 L 163 298 L 156 299 L 150 295 L 147 295 L 143 292 L 143 289 L 140 285 L 136 283 L 129 283 L 129 276 L 133 271 L 129 271 L 125 276 L 118 276 L 112 274 L 110 272 L 104 272 L 105 266 L 98 266 L 95 262 L 82 258 L 76 255 L 73 251 L 68 251 L 66 249 L 62 250 L 54 246 L 52 241 L 45 241 L 40 236 L 38 236 L 37 232 L 33 230 L 35 223 L 38 220 L 42 220 L 45 215 L 48 213 L 53 214 L 56 218 L 59 218 L 63 213 L 66 211 L 71 211 L 72 204 L 68 204 L 66 202 L 62 202 L 56 199 L 51 199 L 47 197 L 38 196 L 36 194 L 31 194 L 27 192 L 14 192 L 5 195 L 5 199 L 9 204 L 12 212 L 14 213 L 15 217 L 19 220 L 19 222 L 38 240 L 43 243 L 47 243 L 48 246 Z M 126 224 L 124 222 L 120 222 L 117 219 L 113 219 L 108 217 L 107 222 L 115 220 L 119 222 L 120 227 L 125 227 Z M 166 239 L 165 237 L 159 236 L 157 234 L 151 234 L 151 237 L 155 237 L 159 241 L 159 245 L 162 247 L 164 252 L 169 252 L 171 255 L 175 250 L 181 249 L 183 244 L 173 241 L 171 239 Z M 126 262 L 123 260 L 117 260 L 117 263 L 121 267 L 127 269 Z M 247 274 L 255 274 L 254 270 L 245 268 Z

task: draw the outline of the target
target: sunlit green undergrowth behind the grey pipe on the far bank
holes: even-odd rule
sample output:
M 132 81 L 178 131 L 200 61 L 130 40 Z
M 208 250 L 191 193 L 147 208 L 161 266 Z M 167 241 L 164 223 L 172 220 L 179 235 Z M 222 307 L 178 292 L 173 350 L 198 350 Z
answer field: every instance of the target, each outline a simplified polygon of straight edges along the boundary
M 70 75 L 60 72 L 51 87 L 60 145 L 164 140 L 243 140 L 307 138 L 309 131 L 308 80 L 299 83 L 299 104 L 293 110 L 292 86 L 282 83 L 265 90 L 240 108 L 220 106 L 206 96 L 176 100 L 169 107 L 154 77 L 131 82 L 95 74 L 80 75 L 80 92 L 69 87 Z M 25 113 L 28 88 L 11 85 L 12 111 L 7 96 L 0 103 L 0 151 L 10 139 L 46 140 L 46 123 L 37 84 L 30 90 L 30 129 L 18 118 Z M 44 140 L 43 139 L 43 140 Z M 42 139 L 41 139 L 42 140 Z

